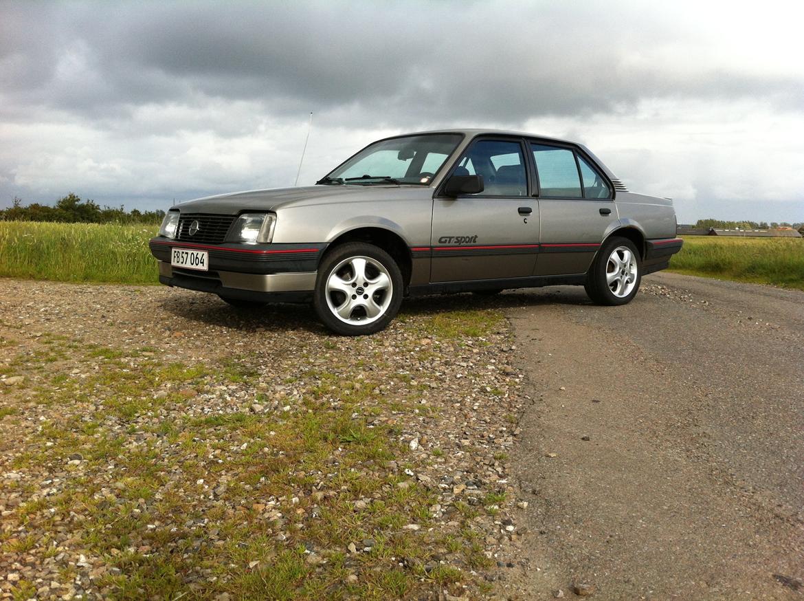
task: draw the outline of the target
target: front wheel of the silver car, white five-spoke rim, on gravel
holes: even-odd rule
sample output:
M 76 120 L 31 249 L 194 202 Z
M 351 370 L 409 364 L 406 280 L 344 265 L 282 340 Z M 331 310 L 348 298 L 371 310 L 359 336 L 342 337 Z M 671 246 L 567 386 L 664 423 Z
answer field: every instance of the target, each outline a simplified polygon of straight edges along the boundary
M 313 307 L 336 334 L 383 330 L 402 304 L 402 272 L 391 255 L 365 242 L 336 246 L 318 268 Z

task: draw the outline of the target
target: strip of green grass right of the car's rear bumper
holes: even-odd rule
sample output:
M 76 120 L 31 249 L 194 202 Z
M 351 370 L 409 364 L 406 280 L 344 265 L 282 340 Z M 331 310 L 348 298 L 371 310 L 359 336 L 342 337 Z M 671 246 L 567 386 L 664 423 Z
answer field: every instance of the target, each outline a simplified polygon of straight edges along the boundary
M 687 236 L 671 271 L 804 290 L 804 239 Z

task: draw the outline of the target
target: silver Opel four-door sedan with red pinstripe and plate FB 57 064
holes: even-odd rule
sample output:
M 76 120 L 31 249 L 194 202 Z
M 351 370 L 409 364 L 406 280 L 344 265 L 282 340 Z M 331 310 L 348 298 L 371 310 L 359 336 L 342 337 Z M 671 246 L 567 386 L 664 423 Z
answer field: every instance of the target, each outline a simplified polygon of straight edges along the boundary
M 670 200 L 634 194 L 585 146 L 494 130 L 374 142 L 316 185 L 170 208 L 159 281 L 236 307 L 310 302 L 342 335 L 414 294 L 576 284 L 622 305 L 681 249 Z

